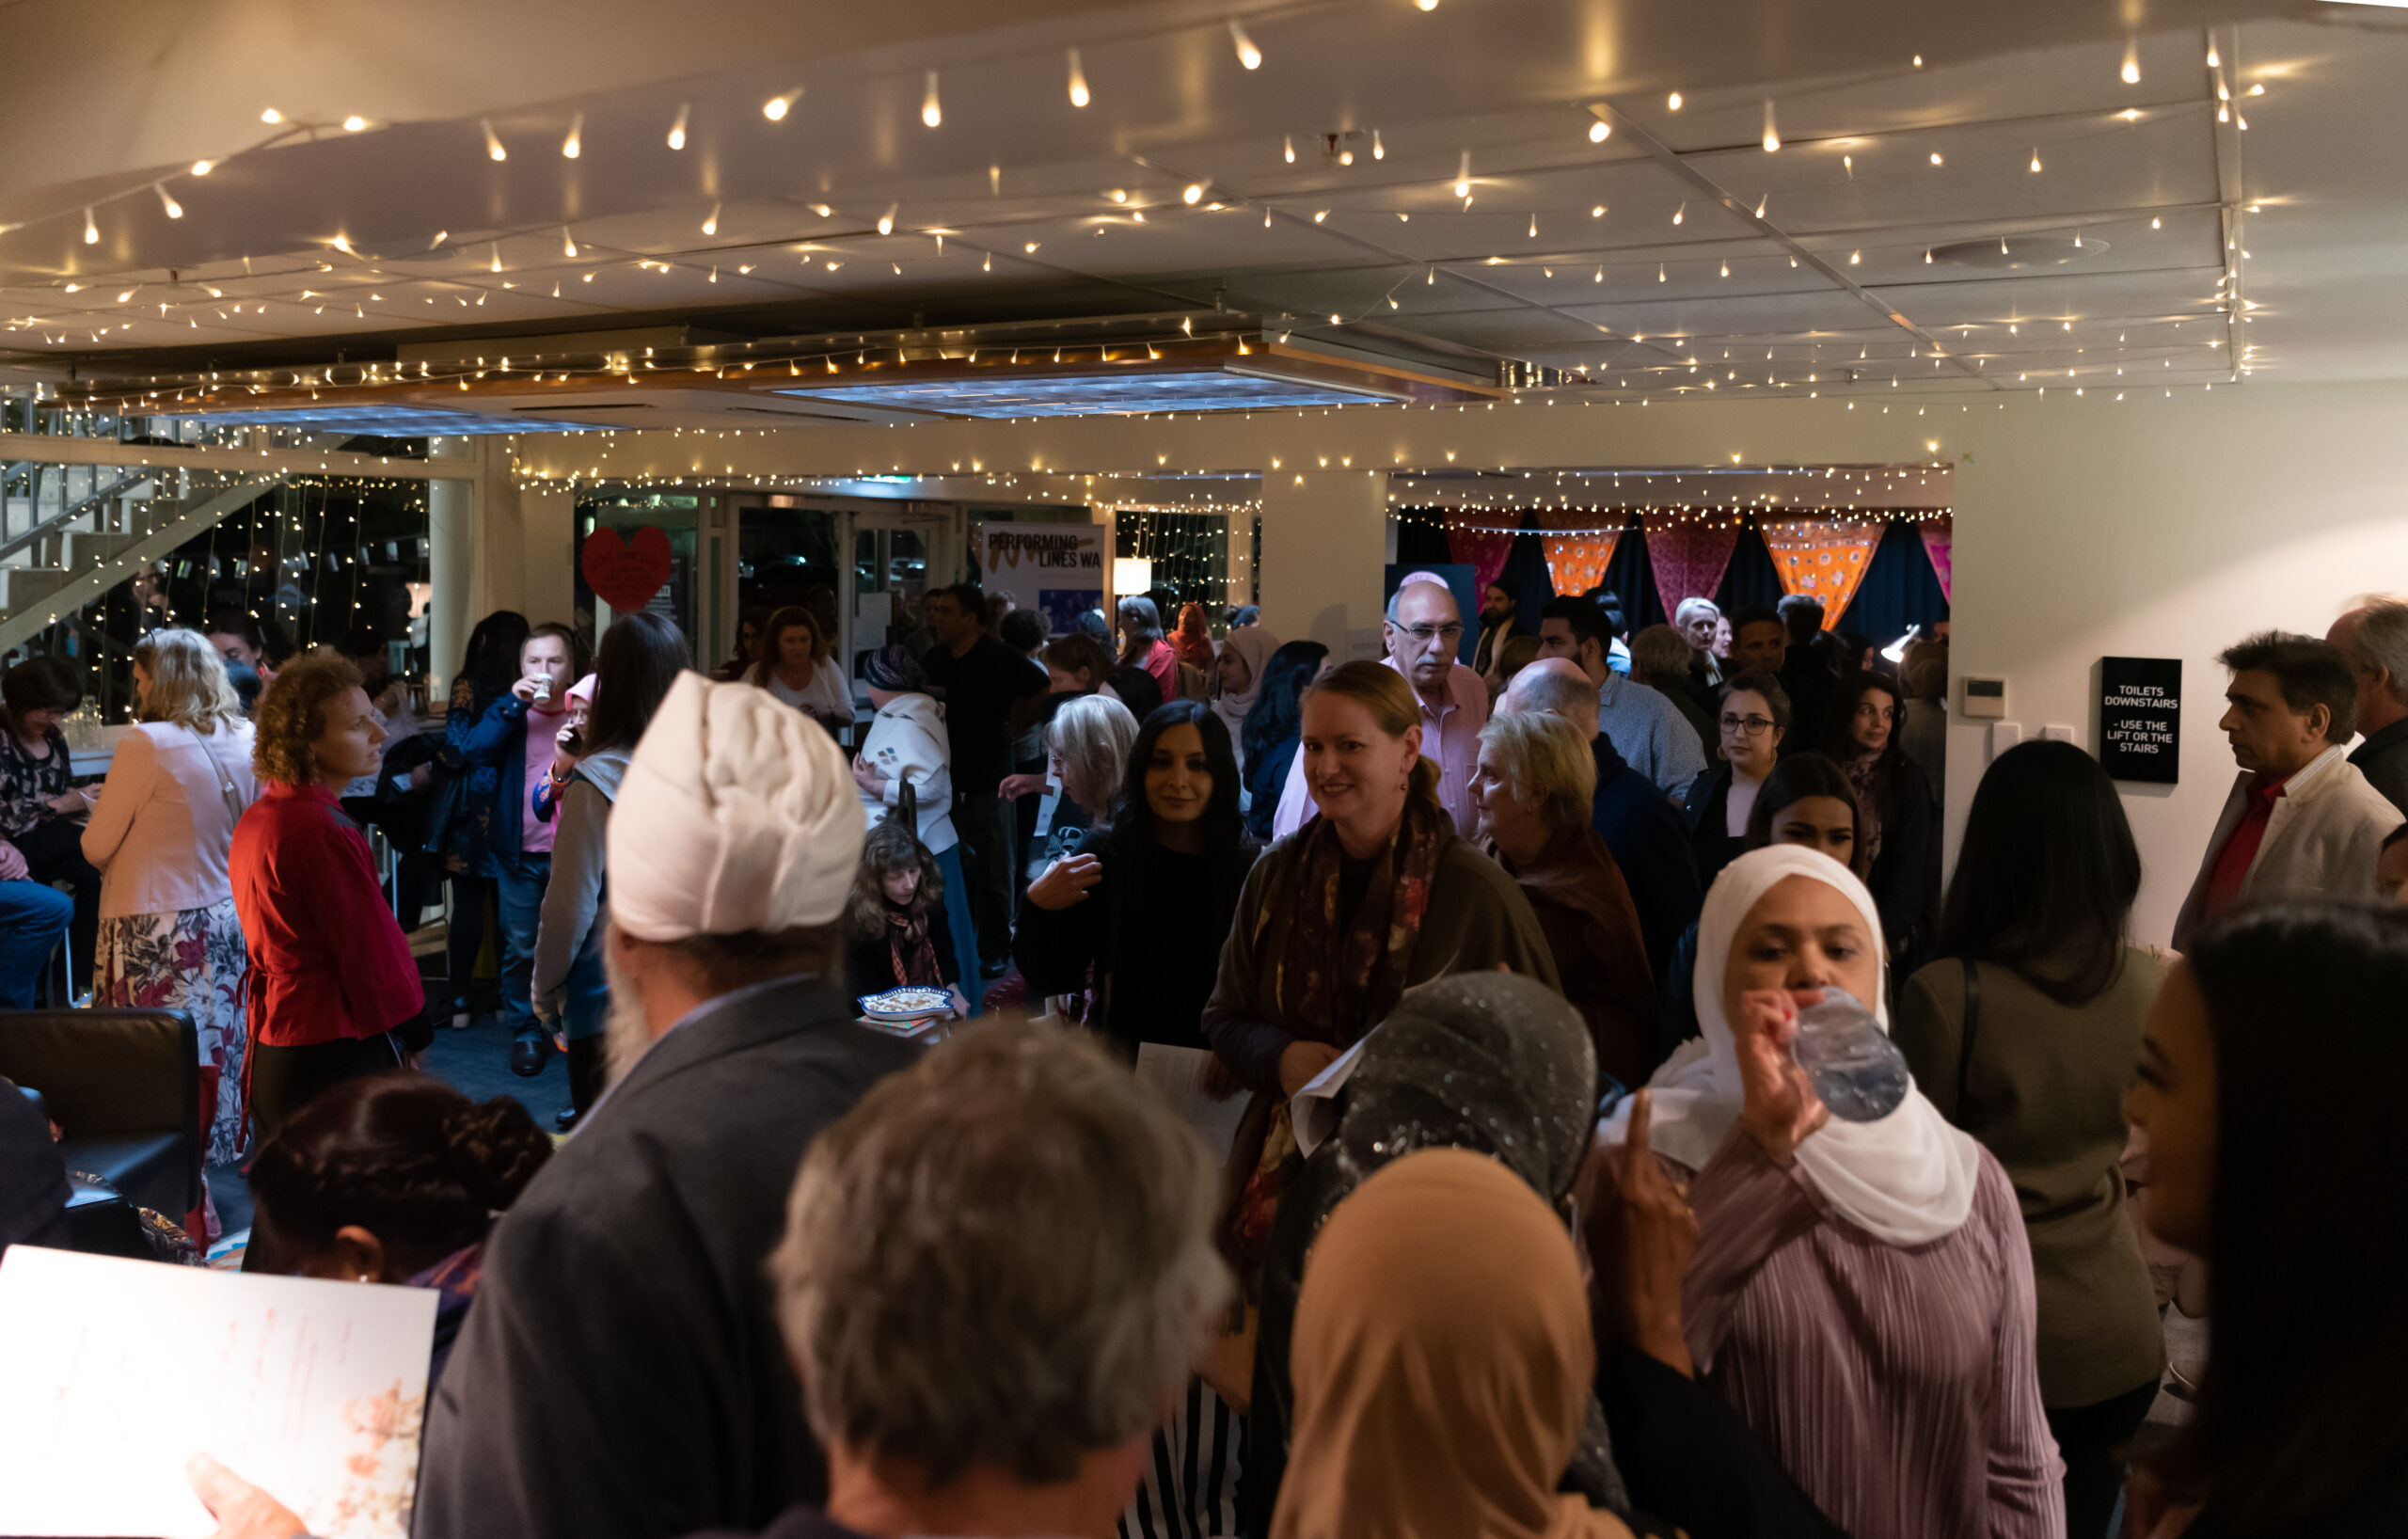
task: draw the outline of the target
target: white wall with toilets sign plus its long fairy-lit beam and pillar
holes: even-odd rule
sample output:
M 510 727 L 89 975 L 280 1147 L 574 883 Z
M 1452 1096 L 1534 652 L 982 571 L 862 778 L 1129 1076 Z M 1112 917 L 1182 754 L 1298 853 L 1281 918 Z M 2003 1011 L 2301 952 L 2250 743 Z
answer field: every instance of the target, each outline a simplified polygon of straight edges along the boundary
M 1385 520 L 1368 467 L 1898 465 L 1955 472 L 1955 670 L 2003 674 L 2011 720 L 2097 747 L 2102 655 L 2182 658 L 2182 783 L 2129 785 L 2141 939 L 2165 942 L 2232 785 L 2215 653 L 2268 626 L 2324 633 L 2343 600 L 2408 588 L 2408 383 L 2071 395 L 1702 400 L 1652 407 L 1247 412 L 1187 419 L 954 421 L 783 434 L 535 436 L 539 474 L 1055 474 L 1257 467 L 1264 619 L 1281 636 L 1373 624 Z M 607 460 L 602 458 L 607 450 Z M 1305 484 L 1296 484 L 1296 472 Z M 1334 472 L 1334 474 L 1332 474 Z M 1348 477 L 1346 472 L 1353 472 Z M 1361 482 L 1356 479 L 1361 477 Z M 1385 491 L 1380 494 L 1385 501 Z M 1286 537 L 1281 535 L 1286 532 Z M 1329 636 L 1324 636 L 1327 641 Z M 1950 701 L 1953 706 L 1953 701 Z M 1950 727 L 1950 850 L 1987 730 Z

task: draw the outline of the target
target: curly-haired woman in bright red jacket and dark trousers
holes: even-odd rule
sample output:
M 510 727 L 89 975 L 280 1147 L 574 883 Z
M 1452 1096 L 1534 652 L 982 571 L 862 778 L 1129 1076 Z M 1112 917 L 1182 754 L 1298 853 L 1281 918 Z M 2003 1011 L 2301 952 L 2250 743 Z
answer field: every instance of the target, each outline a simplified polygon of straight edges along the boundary
M 335 800 L 380 768 L 385 730 L 359 670 L 320 653 L 279 670 L 258 703 L 260 797 L 234 829 L 229 877 L 250 951 L 250 1125 L 265 1142 L 344 1079 L 402 1067 L 426 1043 L 426 992 L 376 881 L 359 824 Z

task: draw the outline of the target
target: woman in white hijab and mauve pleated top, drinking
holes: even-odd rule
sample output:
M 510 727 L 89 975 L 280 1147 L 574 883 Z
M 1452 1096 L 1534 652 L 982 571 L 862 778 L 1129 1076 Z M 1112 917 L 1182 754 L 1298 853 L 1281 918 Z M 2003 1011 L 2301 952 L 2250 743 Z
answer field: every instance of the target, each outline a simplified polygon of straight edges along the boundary
M 1693 1175 L 1681 1315 L 1698 1378 L 1857 1539 L 2056 1539 L 2015 1190 L 1912 1086 L 1881 1120 L 1830 1120 L 1789 1052 L 1828 987 L 1888 1028 L 1864 881 L 1804 845 L 1724 867 L 1698 920 L 1702 1040 L 1657 1072 L 1647 1132 Z

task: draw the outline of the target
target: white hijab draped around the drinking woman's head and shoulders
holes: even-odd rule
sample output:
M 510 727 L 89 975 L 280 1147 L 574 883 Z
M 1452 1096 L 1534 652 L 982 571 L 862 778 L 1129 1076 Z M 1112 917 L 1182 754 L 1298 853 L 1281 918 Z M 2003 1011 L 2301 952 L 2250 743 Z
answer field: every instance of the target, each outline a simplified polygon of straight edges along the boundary
M 1787 877 L 1808 877 L 1847 894 L 1864 915 L 1864 932 L 1881 944 L 1881 913 L 1857 874 L 1804 845 L 1767 845 L 1748 850 L 1722 867 L 1698 918 L 1698 1031 L 1702 1040 L 1683 1043 L 1654 1079 L 1654 1115 L 1647 1144 L 1690 1171 L 1702 1171 L 1739 1120 L 1741 1079 L 1739 1043 L 1722 1014 L 1722 978 L 1748 910 Z M 1883 975 L 1888 961 L 1881 961 Z M 1885 987 L 1873 990 L 1873 1019 L 1890 1028 L 1883 1004 Z M 1630 1125 L 1630 1103 L 1613 1113 L 1599 1137 L 1621 1144 Z M 1972 1211 L 1975 1180 L 1982 1173 L 1982 1146 L 1950 1127 L 1919 1089 L 1878 1122 L 1842 1122 L 1832 1118 L 1799 1144 L 1799 1168 L 1823 1192 L 1842 1219 L 1890 1245 L 1924 1245 L 1955 1233 Z

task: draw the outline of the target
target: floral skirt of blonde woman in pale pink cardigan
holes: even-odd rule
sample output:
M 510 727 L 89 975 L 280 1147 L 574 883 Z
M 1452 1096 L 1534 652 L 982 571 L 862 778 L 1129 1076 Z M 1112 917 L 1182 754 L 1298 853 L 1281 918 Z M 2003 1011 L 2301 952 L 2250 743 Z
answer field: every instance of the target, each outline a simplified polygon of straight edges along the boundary
M 243 925 L 234 898 L 181 913 L 101 920 L 92 947 L 92 1002 L 108 1009 L 181 1009 L 200 1028 L 200 1067 L 214 1069 L 212 1166 L 243 1151 Z M 202 1093 L 207 1101 L 207 1093 Z M 207 1105 L 202 1105 L 209 1113 Z

